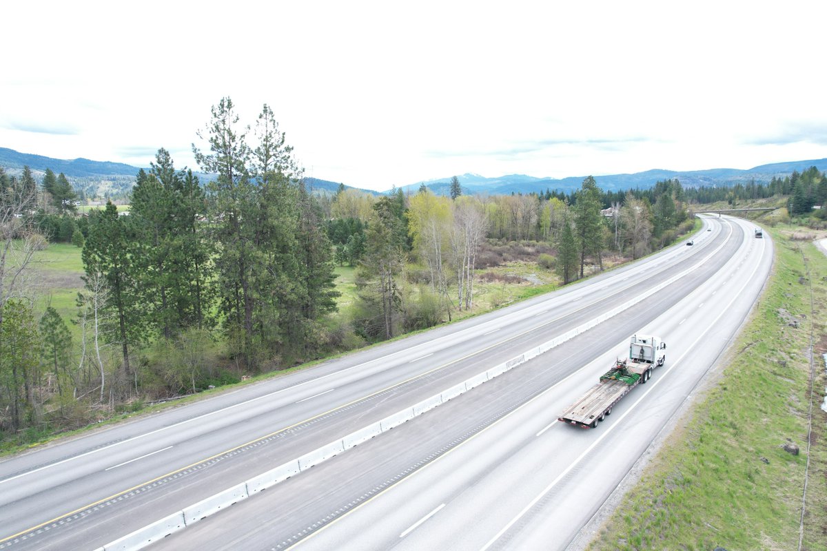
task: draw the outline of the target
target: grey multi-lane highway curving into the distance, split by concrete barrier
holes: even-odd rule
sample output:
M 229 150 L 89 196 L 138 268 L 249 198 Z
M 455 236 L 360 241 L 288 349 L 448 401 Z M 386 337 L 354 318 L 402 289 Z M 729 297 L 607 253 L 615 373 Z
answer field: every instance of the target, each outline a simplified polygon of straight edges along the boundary
M 644 453 L 729 342 L 767 276 L 770 240 L 754 240 L 747 222 L 707 224 L 711 231 L 693 247 L 672 247 L 562 292 L 6 459 L 0 549 L 96 549 L 685 273 L 629 312 L 159 547 L 284 549 L 300 541 L 331 549 L 338 541 L 346 549 L 521 549 L 543 541 L 547 530 L 565 532 L 549 524 L 552 517 L 576 534 L 602 503 L 595 496 L 608 495 L 622 478 L 603 473 L 631 467 Z M 670 344 L 667 364 L 621 402 L 628 410 L 618 407 L 594 431 L 552 422 L 631 333 L 649 329 Z M 622 458 L 608 447 L 618 442 Z M 583 469 L 601 475 L 576 477 Z M 562 478 L 543 494 L 554 479 L 549 473 Z M 586 487 L 572 490 L 571 480 L 581 478 Z M 434 482 L 418 482 L 424 480 Z M 535 509 L 558 503 L 568 505 L 538 520 Z M 370 526 L 370 539 L 358 536 L 360 523 Z

